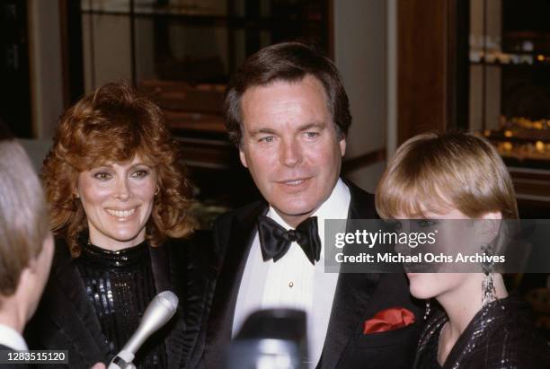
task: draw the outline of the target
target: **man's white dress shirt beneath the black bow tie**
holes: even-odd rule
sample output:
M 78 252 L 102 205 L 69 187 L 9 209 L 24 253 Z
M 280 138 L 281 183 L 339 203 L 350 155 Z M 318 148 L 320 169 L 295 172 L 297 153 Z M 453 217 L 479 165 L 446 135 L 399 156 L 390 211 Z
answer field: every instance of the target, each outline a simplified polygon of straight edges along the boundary
M 296 242 L 292 242 L 287 254 L 277 262 L 272 259 L 263 261 L 256 232 L 237 296 L 233 337 L 252 312 L 272 308 L 300 309 L 307 314 L 308 366 L 314 368 L 317 365 L 338 280 L 338 273 L 324 273 L 324 220 L 347 219 L 349 207 L 350 189 L 338 180 L 331 196 L 312 215 L 317 216 L 322 244 L 321 259 L 315 266 Z M 267 216 L 287 230 L 292 228 L 272 207 Z

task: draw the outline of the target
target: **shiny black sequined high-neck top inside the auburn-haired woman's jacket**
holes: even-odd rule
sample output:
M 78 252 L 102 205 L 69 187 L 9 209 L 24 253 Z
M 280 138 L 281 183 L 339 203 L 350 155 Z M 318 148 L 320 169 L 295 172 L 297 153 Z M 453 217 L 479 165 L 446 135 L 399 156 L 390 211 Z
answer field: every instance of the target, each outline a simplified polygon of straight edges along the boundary
M 149 247 L 142 242 L 111 251 L 87 243 L 75 264 L 100 321 L 104 343 L 110 356 L 115 356 L 136 331 L 147 304 L 157 294 Z M 164 341 L 148 339 L 134 364 L 140 368 L 166 367 Z

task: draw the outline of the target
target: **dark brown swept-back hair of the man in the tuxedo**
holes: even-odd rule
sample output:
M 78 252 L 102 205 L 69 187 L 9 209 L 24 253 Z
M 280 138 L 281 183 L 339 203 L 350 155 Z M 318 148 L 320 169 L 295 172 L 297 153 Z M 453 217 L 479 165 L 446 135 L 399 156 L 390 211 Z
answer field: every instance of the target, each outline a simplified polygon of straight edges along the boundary
M 229 140 L 237 146 L 242 143 L 241 99 L 248 88 L 275 81 L 299 82 L 307 75 L 323 84 L 336 134 L 345 137 L 351 125 L 350 102 L 336 66 L 312 46 L 283 42 L 248 57 L 227 86 L 224 112 Z

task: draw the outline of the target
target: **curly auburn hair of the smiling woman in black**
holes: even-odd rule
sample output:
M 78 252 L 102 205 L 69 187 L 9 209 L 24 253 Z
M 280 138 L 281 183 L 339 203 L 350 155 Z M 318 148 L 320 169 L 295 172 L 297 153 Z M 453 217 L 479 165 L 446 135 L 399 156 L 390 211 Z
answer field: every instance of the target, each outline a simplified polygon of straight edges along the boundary
M 88 225 L 75 198 L 78 174 L 104 163 L 126 163 L 136 155 L 157 172 L 159 193 L 146 223 L 146 240 L 155 247 L 166 237 L 191 233 L 191 185 L 162 111 L 126 83 L 107 83 L 59 119 L 42 167 L 52 232 L 67 241 L 73 257 L 80 254 L 78 237 Z

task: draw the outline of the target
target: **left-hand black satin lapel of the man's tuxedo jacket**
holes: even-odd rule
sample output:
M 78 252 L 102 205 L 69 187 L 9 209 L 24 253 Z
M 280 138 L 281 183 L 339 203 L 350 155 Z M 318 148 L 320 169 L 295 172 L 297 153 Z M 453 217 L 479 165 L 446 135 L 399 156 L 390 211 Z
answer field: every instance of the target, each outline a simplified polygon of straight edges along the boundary
M 207 342 L 208 346 L 214 349 L 226 347 L 231 340 L 236 299 L 246 259 L 256 234 L 256 221 L 258 215 L 266 211 L 265 204 L 258 204 L 245 214 L 235 215 L 229 225 L 231 231 L 228 242 L 223 248 L 223 255 L 219 255 L 223 264 L 217 276 L 216 292 L 208 322 Z M 218 355 L 221 353 L 218 352 Z

